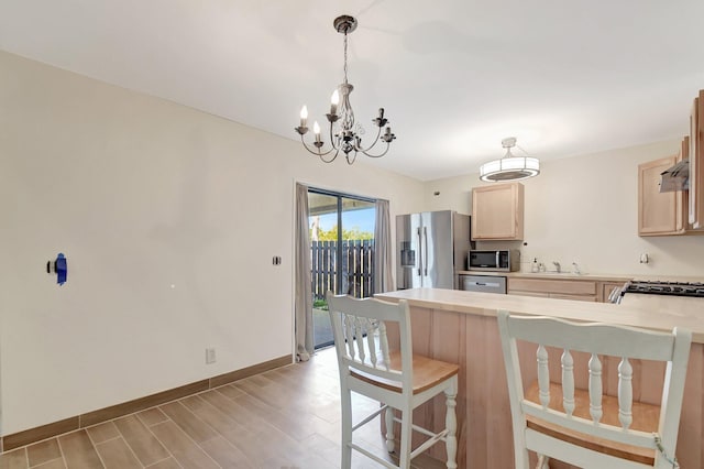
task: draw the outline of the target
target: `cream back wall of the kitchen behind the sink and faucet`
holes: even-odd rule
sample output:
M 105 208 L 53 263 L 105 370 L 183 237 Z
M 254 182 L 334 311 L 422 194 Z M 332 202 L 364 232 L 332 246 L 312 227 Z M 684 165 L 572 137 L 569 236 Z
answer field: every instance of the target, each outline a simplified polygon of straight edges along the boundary
M 679 141 L 613 150 L 542 162 L 538 177 L 522 182 L 526 193 L 525 242 L 484 242 L 481 247 L 520 248 L 522 269 L 535 257 L 584 272 L 692 275 L 704 280 L 704 236 L 638 237 L 638 164 L 676 153 Z M 471 212 L 477 174 L 429 182 L 426 208 Z M 439 192 L 440 195 L 433 195 Z M 651 262 L 641 264 L 640 254 Z

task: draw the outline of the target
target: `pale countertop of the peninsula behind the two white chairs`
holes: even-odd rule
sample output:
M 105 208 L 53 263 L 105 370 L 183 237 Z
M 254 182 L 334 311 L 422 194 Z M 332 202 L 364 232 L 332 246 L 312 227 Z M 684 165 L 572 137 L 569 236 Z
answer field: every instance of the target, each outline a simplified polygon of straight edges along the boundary
M 497 309 L 507 309 L 518 314 L 561 317 L 588 323 L 610 323 L 654 330 L 672 330 L 673 327 L 684 327 L 692 331 L 694 342 L 704 343 L 704 301 L 701 299 L 678 302 L 675 308 L 672 303 L 668 304 L 667 302 L 628 306 L 443 288 L 400 290 L 374 296 L 387 301 L 406 299 L 410 306 L 481 316 L 496 316 Z

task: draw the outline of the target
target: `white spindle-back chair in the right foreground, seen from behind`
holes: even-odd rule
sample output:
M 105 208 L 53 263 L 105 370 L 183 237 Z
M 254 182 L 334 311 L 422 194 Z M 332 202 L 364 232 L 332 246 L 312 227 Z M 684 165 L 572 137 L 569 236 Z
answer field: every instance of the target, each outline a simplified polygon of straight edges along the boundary
M 582 468 L 679 467 L 674 449 L 692 341 L 690 331 L 675 328 L 672 332 L 657 332 L 512 316 L 507 312 L 498 312 L 498 328 L 508 379 L 516 468 L 528 468 L 528 450 L 538 454 L 538 468 L 548 468 L 550 458 Z M 528 342 L 531 355 L 537 350 L 529 360 L 537 361 L 537 370 L 525 368 L 525 377 L 517 340 Z M 528 345 L 521 343 L 520 350 L 524 347 Z M 560 384 L 549 375 L 547 347 L 561 353 Z M 585 373 L 588 390 L 575 389 L 572 352 L 591 357 L 584 370 L 576 370 Z M 610 359 L 614 363 L 619 362 L 618 396 L 603 395 L 602 370 L 608 357 L 615 357 Z M 664 377 L 647 377 L 663 381 L 660 405 L 634 402 L 634 367 L 629 360 L 664 362 Z

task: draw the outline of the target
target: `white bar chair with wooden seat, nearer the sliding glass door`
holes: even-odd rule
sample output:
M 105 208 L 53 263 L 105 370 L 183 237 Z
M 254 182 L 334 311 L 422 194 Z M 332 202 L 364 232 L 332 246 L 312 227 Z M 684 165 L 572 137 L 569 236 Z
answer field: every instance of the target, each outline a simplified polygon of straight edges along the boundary
M 405 301 L 395 304 L 374 298 L 333 296 L 328 292 L 328 307 L 340 368 L 342 469 L 350 468 L 353 449 L 387 468 L 409 468 L 413 458 L 438 441 L 446 443 L 447 467 L 457 468 L 454 407 L 459 367 L 413 355 L 410 316 Z M 389 350 L 387 327 L 398 327 L 399 350 Z M 376 400 L 382 405 L 353 424 L 351 392 Z M 436 433 L 414 425 L 413 410 L 440 393 L 446 395 L 446 428 Z M 394 415 L 393 410 L 400 412 L 400 418 Z M 374 455 L 353 439 L 354 430 L 382 413 L 388 452 L 395 448 L 394 422 L 400 423 L 398 466 Z M 411 430 L 427 438 L 413 450 Z

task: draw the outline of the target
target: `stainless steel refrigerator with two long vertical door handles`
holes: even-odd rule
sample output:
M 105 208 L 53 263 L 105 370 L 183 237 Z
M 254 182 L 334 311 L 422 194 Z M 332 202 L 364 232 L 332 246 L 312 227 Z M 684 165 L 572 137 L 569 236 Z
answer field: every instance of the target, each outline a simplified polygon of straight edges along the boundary
M 470 216 L 452 210 L 396 217 L 396 286 L 458 288 L 466 269 Z

